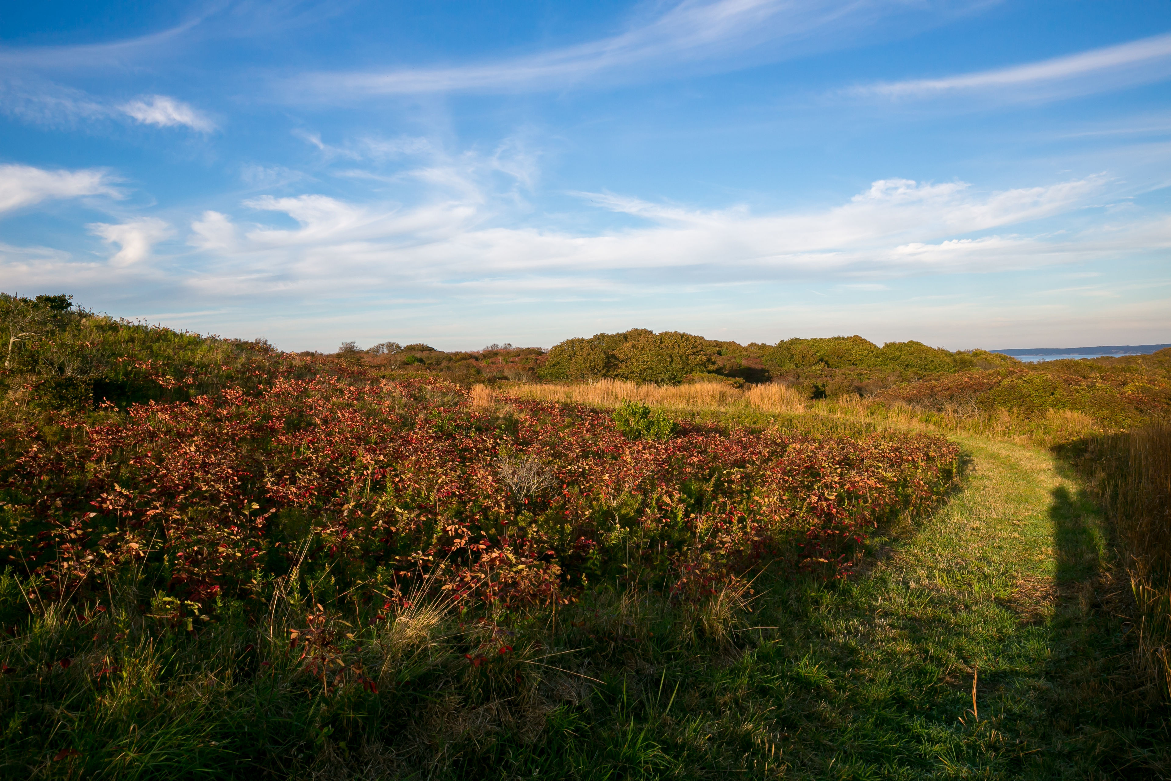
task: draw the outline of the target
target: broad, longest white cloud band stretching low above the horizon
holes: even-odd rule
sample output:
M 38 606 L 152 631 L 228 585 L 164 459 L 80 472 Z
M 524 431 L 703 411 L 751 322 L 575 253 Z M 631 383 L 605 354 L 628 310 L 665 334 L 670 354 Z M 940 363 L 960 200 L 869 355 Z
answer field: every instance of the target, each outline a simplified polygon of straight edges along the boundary
M 508 295 L 533 288 L 605 297 L 628 286 L 814 279 L 878 289 L 892 276 L 1012 270 L 1171 246 L 1171 220 L 1068 235 L 965 235 L 1069 213 L 1107 184 L 1090 177 L 981 193 L 959 181 L 886 179 L 837 206 L 761 215 L 745 207 L 696 211 L 593 196 L 646 225 L 591 234 L 498 225 L 499 205 L 484 193 L 415 207 L 265 196 L 245 206 L 287 214 L 296 227 L 238 229 L 212 212 L 193 224 L 190 244 L 206 252 L 200 289 L 225 294 L 406 286 L 457 295 L 465 287 L 480 295 L 499 287 Z

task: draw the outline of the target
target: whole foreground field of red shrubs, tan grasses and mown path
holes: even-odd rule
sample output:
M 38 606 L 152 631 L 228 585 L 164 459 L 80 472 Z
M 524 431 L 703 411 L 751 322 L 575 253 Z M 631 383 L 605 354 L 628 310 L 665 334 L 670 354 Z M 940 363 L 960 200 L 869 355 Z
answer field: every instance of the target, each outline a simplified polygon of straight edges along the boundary
M 1165 427 L 26 303 L 5 777 L 1171 775 Z

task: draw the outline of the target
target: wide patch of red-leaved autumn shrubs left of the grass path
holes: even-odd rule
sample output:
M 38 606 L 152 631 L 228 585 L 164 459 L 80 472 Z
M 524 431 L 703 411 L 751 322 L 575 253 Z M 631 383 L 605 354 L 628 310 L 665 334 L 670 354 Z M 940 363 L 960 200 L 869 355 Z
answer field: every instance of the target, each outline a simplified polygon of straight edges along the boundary
M 8 566 L 75 600 L 151 573 L 176 621 L 225 597 L 262 609 L 295 568 L 328 570 L 327 604 L 430 588 L 498 610 L 600 577 L 699 598 L 766 557 L 833 576 L 877 523 L 934 501 L 957 457 L 917 436 L 630 438 L 589 407 L 485 407 L 357 370 L 11 415 L 0 437 Z

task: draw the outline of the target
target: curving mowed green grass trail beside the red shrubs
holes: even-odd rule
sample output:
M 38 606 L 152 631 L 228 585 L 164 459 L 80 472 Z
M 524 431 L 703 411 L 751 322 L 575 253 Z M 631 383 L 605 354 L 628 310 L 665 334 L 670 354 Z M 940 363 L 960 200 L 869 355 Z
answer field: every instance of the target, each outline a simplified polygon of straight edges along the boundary
M 792 770 L 1114 777 L 1143 726 L 1111 687 L 1125 638 L 1101 602 L 1100 516 L 1050 453 L 952 439 L 968 458 L 964 488 L 801 611 L 793 642 L 820 672 L 793 693 L 804 718 L 827 708 L 834 726 L 802 729 L 813 745 L 794 741 Z

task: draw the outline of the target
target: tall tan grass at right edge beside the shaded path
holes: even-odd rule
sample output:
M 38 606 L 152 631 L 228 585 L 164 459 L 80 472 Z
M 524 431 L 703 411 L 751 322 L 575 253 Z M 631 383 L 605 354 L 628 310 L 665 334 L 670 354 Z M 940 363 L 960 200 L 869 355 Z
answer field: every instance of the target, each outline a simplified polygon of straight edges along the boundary
M 1171 424 L 1091 440 L 1082 464 L 1118 535 L 1141 665 L 1171 704 Z

